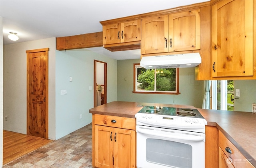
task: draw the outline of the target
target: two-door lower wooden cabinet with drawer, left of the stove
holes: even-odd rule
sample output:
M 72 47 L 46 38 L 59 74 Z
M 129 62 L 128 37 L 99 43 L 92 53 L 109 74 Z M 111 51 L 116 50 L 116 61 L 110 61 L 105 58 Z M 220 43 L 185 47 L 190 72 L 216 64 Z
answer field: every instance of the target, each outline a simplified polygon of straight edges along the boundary
M 96 122 L 93 125 L 92 139 L 93 166 L 98 168 L 136 168 L 135 128 L 134 130 L 126 129 L 126 126 L 122 124 L 126 123 L 127 119 L 128 123 L 134 123 L 135 126 L 135 119 L 94 115 L 93 118 Z M 102 123 L 102 125 L 96 123 Z

